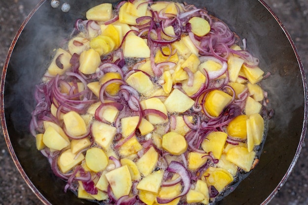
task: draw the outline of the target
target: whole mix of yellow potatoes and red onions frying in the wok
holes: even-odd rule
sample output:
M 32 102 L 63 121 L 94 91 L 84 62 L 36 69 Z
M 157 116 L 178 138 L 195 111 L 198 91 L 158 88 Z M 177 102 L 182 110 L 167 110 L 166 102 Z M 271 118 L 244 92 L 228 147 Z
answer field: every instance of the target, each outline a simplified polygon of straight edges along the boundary
M 55 51 L 31 120 L 64 191 L 207 205 L 254 168 L 267 75 L 245 40 L 185 3 L 102 3 L 86 17 Z

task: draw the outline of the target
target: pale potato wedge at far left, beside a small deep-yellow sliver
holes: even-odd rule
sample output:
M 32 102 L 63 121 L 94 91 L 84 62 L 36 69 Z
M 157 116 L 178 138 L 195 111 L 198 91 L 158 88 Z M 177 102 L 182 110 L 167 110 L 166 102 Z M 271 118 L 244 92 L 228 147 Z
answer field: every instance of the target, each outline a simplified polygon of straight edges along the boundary
M 49 126 L 45 129 L 43 134 L 43 144 L 52 149 L 62 150 L 69 146 L 70 143 L 67 142 L 54 127 Z

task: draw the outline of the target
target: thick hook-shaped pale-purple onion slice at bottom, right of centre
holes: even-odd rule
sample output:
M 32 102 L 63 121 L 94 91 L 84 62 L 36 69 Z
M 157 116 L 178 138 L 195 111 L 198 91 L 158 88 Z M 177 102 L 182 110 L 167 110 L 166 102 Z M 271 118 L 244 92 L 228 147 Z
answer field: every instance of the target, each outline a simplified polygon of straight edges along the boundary
M 167 171 L 176 173 L 182 177 L 183 189 L 182 189 L 182 193 L 176 197 L 172 197 L 169 199 L 157 197 L 156 199 L 159 204 L 166 204 L 166 203 L 172 202 L 173 200 L 179 197 L 185 196 L 188 193 L 190 186 L 191 186 L 190 173 L 180 162 L 172 161 L 169 164 Z

